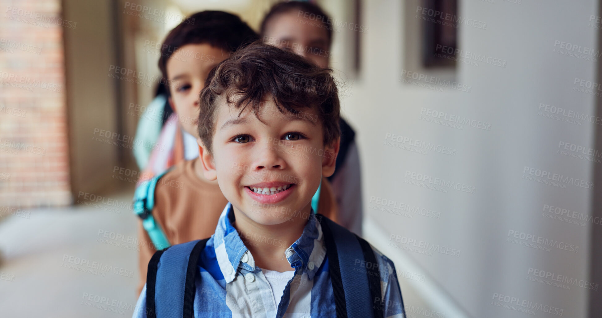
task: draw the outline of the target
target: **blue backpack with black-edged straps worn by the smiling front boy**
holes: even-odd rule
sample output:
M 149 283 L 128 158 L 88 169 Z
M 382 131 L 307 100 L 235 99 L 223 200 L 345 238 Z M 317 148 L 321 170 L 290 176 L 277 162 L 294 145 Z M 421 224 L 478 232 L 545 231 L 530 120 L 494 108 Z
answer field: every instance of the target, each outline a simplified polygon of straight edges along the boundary
M 379 269 L 366 268 L 365 276 L 354 271 L 356 259 L 378 264 L 370 244 L 329 218 L 321 214 L 316 217 L 324 235 L 337 317 L 382 318 L 383 307 L 374 305 L 381 297 Z M 190 241 L 155 252 L 146 276 L 148 318 L 194 317 L 195 280 L 200 279 L 197 266 L 208 240 Z

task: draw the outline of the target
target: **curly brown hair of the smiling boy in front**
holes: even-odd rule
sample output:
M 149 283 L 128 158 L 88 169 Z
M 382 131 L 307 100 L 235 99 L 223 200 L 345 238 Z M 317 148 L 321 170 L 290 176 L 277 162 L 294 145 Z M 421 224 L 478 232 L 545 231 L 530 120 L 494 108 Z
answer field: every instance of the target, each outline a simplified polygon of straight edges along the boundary
M 209 73 L 200 92 L 199 136 L 206 150 L 213 153 L 216 100 L 222 94 L 230 107 L 240 110 L 239 117 L 249 106 L 260 121 L 268 98 L 286 115 L 300 116 L 304 109 L 316 107 L 324 145 L 331 145 L 341 135 L 338 89 L 331 73 L 330 68 L 259 41 L 238 50 Z

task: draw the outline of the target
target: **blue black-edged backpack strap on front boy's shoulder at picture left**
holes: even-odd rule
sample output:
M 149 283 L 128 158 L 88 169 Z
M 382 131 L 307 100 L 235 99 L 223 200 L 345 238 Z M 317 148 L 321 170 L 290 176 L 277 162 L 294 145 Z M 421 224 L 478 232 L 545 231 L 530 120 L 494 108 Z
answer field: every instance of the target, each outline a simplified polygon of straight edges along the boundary
M 194 317 L 197 266 L 208 240 L 176 244 L 155 252 L 146 275 L 147 317 Z

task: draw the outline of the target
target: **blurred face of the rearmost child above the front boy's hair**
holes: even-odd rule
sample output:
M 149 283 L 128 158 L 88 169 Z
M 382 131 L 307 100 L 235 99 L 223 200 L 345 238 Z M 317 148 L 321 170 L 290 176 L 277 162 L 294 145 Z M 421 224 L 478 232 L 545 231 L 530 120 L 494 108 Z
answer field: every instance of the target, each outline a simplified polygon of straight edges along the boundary
M 288 49 L 321 68 L 328 66 L 328 33 L 321 21 L 303 17 L 303 11 L 277 14 L 265 25 L 264 42 Z

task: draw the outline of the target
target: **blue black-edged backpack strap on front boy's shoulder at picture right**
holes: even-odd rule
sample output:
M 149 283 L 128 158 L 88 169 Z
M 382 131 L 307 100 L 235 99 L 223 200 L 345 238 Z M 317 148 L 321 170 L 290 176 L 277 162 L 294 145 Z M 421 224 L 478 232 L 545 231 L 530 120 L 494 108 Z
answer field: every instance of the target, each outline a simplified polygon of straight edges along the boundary
M 332 281 L 337 317 L 382 318 L 382 309 L 374 305 L 374 302 L 381 297 L 379 271 L 376 269 L 374 273 L 374 270 L 370 270 L 364 276 L 358 275 L 354 270 L 358 259 L 378 264 L 370 244 L 363 239 L 361 243 L 357 235 L 324 215 L 317 214 L 316 217 L 320 221 L 324 234 L 328 272 Z

